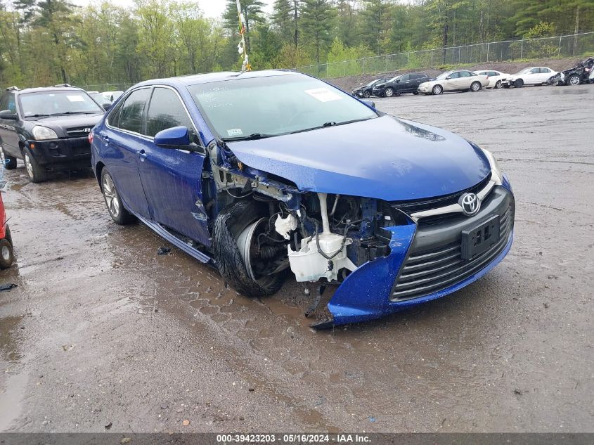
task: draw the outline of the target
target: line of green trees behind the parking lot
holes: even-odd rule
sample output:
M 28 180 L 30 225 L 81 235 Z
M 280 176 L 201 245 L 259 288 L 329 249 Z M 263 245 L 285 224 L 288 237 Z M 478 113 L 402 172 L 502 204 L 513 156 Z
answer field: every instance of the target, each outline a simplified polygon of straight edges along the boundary
M 207 1 L 207 0 L 203 0 Z M 254 69 L 594 30 L 594 0 L 240 0 Z M 237 70 L 235 0 L 0 0 L 0 85 L 133 84 Z

